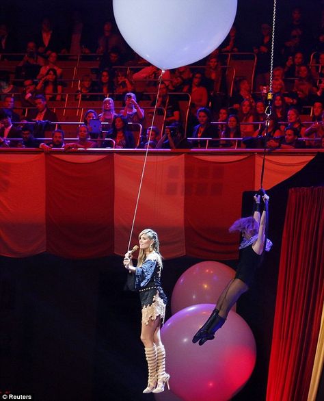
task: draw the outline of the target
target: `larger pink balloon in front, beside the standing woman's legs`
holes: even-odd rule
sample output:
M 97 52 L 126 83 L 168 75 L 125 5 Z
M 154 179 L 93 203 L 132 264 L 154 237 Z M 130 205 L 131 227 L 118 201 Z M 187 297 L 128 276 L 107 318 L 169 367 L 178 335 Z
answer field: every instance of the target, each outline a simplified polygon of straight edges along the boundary
M 167 320 L 161 331 L 170 387 L 185 401 L 230 400 L 254 370 L 254 336 L 245 320 L 234 311 L 230 311 L 215 339 L 203 346 L 192 343 L 193 335 L 213 307 L 211 304 L 187 307 Z

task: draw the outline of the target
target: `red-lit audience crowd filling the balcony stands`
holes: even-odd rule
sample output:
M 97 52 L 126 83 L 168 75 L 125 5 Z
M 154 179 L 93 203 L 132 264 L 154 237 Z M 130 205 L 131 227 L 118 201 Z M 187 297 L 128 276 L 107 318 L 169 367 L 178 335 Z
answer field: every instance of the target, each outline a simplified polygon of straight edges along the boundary
M 309 14 L 312 12 L 309 11 Z M 319 12 L 317 14 L 320 16 Z M 322 16 L 324 16 L 324 12 L 322 12 Z M 114 109 L 114 101 L 118 102 L 118 110 L 127 122 L 141 124 L 143 132 L 146 132 L 144 109 L 139 107 L 137 102 L 139 99 L 143 105 L 146 101 L 146 106 L 150 104 L 154 107 L 157 102 L 158 114 L 161 114 L 159 119 L 163 118 L 163 122 L 161 126 L 155 124 L 159 125 L 160 129 L 163 126 L 171 127 L 163 132 L 162 138 L 159 139 L 159 146 L 165 148 L 187 147 L 187 142 L 182 142 L 182 125 L 186 127 L 185 135 L 187 137 L 197 135 L 197 138 L 202 138 L 207 135 L 208 138 L 211 138 L 215 132 L 218 135 L 219 129 L 223 138 L 233 138 L 232 135 L 235 133 L 239 135 L 238 138 L 241 136 L 247 138 L 244 141 L 245 146 L 251 144 L 260 146 L 260 141 L 258 143 L 249 142 L 249 139 L 262 137 L 262 129 L 264 129 L 263 125 L 257 125 L 256 122 L 265 120 L 266 90 L 269 88 L 271 25 L 262 23 L 259 42 L 256 41 L 254 47 L 251 44 L 249 49 L 245 47 L 246 51 L 254 51 L 256 55 L 254 80 L 252 82 L 252 75 L 245 75 L 242 71 L 237 70 L 236 78 L 233 79 L 237 86 L 237 92 L 234 92 L 232 96 L 228 93 L 233 82 L 229 81 L 231 76 L 228 75 L 227 66 L 234 59 L 230 58 L 228 52 L 245 51 L 245 48 L 243 49 L 238 44 L 240 36 L 234 25 L 219 49 L 215 49 L 201 62 L 196 62 L 193 66 L 180 66 L 172 71 L 166 71 L 162 75 L 159 96 L 156 98 L 154 93 L 157 93 L 159 87 L 161 70 L 150 65 L 134 51 L 130 51 L 116 30 L 115 24 L 110 21 L 103 24 L 103 34 L 98 36 L 96 30 L 88 29 L 89 21 L 85 21 L 87 18 L 82 18 L 79 10 L 72 13 L 70 28 L 63 27 L 62 21 L 55 20 L 55 14 L 40 16 L 40 18 L 42 18 L 42 23 L 38 35 L 33 36 L 35 27 L 31 25 L 30 36 L 22 37 L 18 41 L 12 40 L 7 23 L 0 24 L 0 60 L 3 60 L 4 63 L 8 61 L 11 63 L 8 69 L 0 66 L 0 106 L 3 107 L 1 112 L 8 113 L 10 121 L 18 122 L 20 116 L 14 112 L 14 97 L 16 97 L 17 107 L 22 109 L 22 116 L 27 116 L 28 120 L 36 122 L 31 125 L 36 138 L 42 136 L 44 129 L 53 130 L 53 125 L 49 127 L 44 121 L 58 120 L 56 114 L 46 107 L 46 101 L 66 100 L 66 111 L 60 118 L 63 123 L 65 117 L 68 116 L 69 108 L 77 109 L 75 122 L 79 121 L 83 109 L 89 108 L 84 115 L 85 125 L 88 130 L 92 129 L 92 125 L 94 125 L 94 129 L 100 130 L 100 122 L 98 125 L 95 122 L 90 124 L 90 120 L 97 117 L 95 109 L 98 108 L 98 105 L 96 102 L 105 98 L 103 112 L 98 116 L 99 120 L 103 122 L 103 130 L 108 132 L 108 135 L 116 135 L 117 147 L 124 147 L 124 144 L 129 147 L 131 137 L 121 133 L 129 131 L 130 128 L 127 125 L 122 129 L 118 128 L 118 133 L 116 127 L 113 133 L 109 131 L 113 121 L 116 124 L 117 114 Z M 55 22 L 54 28 L 51 20 Z M 282 122 L 280 127 L 282 133 L 288 124 L 298 132 L 299 137 L 305 138 L 304 142 L 297 141 L 294 146 L 303 146 L 302 144 L 306 143 L 306 147 L 319 147 L 319 138 L 323 136 L 321 117 L 324 104 L 324 18 L 319 21 L 319 24 L 315 21 L 313 31 L 309 27 L 309 21 L 310 18 L 305 18 L 300 8 L 294 8 L 291 12 L 291 20 L 289 17 L 286 18 L 284 29 L 277 39 L 280 57 L 275 55 L 273 60 L 273 116 L 271 118 Z M 256 23 L 260 22 L 256 21 Z M 62 29 L 65 29 L 66 40 L 62 40 Z M 311 38 L 312 32 L 314 33 L 313 38 Z M 20 31 L 16 33 L 18 36 Z M 96 37 L 98 38 L 97 42 Z M 23 60 L 20 58 L 21 62 L 17 61 L 16 66 L 12 67 L 12 60 L 15 60 L 16 56 L 6 55 L 3 57 L 3 53 L 18 52 L 16 43 L 26 43 L 27 40 L 27 49 Z M 72 53 L 79 54 L 80 58 L 67 55 L 68 49 L 69 51 L 73 49 Z M 312 49 L 316 53 L 311 55 Z M 62 53 L 58 55 L 57 51 L 62 51 Z M 91 51 L 96 52 L 96 55 L 89 54 Z M 58 57 L 59 62 L 57 62 Z M 93 66 L 89 63 L 83 65 L 83 60 L 93 62 Z M 70 64 L 64 64 L 66 61 L 72 64 L 72 68 Z M 241 63 L 244 62 L 241 61 Z M 74 68 L 76 69 L 74 70 Z M 65 82 L 61 81 L 63 75 L 66 79 Z M 74 81 L 78 77 L 81 79 L 79 88 L 76 90 Z M 94 84 L 95 77 L 98 85 Z M 252 83 L 256 88 L 255 93 L 251 89 Z M 180 93 L 190 95 L 191 107 L 189 110 L 189 96 Z M 42 96 L 40 97 L 40 95 Z M 77 106 L 72 105 L 71 101 L 77 101 Z M 87 101 L 91 103 L 85 103 Z M 125 107 L 120 109 L 119 103 L 122 101 L 124 101 Z M 234 108 L 228 112 L 227 107 L 229 106 Z M 33 109 L 33 107 L 36 108 Z M 212 111 L 211 117 L 207 115 L 208 112 L 202 112 L 206 107 Z M 288 107 L 290 107 L 289 110 L 287 110 Z M 302 115 L 304 124 L 301 124 L 299 114 Z M 206 126 L 202 122 L 203 115 L 208 121 Z M 68 118 L 70 121 L 71 115 Z M 118 127 L 124 124 L 123 118 L 117 121 Z M 221 124 L 211 125 L 211 120 L 218 120 Z M 8 125 L 8 123 L 5 124 Z M 277 127 L 274 130 L 278 130 Z M 209 131 L 213 131 L 213 135 L 209 135 Z M 288 131 L 288 134 L 291 132 Z M 91 132 L 90 135 L 94 137 L 93 139 L 97 138 Z M 157 133 L 152 132 L 152 138 L 148 143 L 146 135 L 142 135 L 139 147 L 143 148 L 147 145 L 154 148 L 158 142 L 157 138 L 154 138 L 156 136 Z M 272 138 L 275 135 L 271 133 L 270 136 Z M 26 138 L 28 144 L 31 144 L 31 138 L 28 136 Z M 124 140 L 120 140 L 120 138 L 124 138 Z M 2 140 L 2 142 L 5 141 Z M 135 142 L 134 138 L 133 142 Z M 282 145 L 286 144 L 284 142 Z M 96 143 L 100 144 L 100 142 Z M 227 142 L 227 144 L 223 141 L 221 145 L 237 146 L 234 141 Z M 278 142 L 276 146 L 278 147 Z

